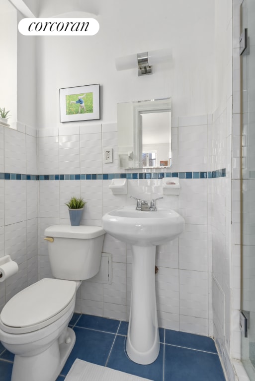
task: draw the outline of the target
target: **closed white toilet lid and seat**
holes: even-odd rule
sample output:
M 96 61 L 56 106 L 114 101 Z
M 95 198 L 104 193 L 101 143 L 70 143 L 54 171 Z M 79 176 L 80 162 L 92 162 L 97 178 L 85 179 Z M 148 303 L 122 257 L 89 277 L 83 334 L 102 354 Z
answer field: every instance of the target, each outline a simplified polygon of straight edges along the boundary
M 73 308 L 76 282 L 44 278 L 20 291 L 3 307 L 0 328 L 8 333 L 41 329 Z

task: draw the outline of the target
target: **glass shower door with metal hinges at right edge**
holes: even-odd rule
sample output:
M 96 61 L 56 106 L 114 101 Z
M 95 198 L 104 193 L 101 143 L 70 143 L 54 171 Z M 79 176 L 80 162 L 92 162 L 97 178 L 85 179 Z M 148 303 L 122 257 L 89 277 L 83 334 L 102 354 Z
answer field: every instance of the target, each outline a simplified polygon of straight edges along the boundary
M 241 357 L 255 380 L 255 1 L 241 5 L 242 32 L 247 48 L 241 58 L 242 75 L 242 310 L 247 337 L 242 333 Z

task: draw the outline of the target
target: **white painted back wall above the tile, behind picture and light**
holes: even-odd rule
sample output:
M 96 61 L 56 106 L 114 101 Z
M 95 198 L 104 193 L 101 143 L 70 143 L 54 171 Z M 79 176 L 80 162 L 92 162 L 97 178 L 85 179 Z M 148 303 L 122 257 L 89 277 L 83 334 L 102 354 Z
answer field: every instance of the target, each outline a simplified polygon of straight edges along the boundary
M 45 6 L 50 12 L 51 3 Z M 38 127 L 61 126 L 59 88 L 93 83 L 101 85 L 104 123 L 116 122 L 119 102 L 169 96 L 173 118 L 212 112 L 214 0 L 162 0 L 146 7 L 108 0 L 96 19 L 95 36 L 38 39 Z M 166 47 L 173 49 L 173 62 L 155 66 L 153 75 L 116 71 L 116 57 Z

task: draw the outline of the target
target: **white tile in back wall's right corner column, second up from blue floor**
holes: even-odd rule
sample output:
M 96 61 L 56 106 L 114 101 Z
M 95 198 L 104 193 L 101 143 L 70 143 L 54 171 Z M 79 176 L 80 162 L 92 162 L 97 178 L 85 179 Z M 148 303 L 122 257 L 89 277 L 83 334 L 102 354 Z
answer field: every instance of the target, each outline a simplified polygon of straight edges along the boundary
M 179 270 L 180 315 L 208 319 L 208 273 Z

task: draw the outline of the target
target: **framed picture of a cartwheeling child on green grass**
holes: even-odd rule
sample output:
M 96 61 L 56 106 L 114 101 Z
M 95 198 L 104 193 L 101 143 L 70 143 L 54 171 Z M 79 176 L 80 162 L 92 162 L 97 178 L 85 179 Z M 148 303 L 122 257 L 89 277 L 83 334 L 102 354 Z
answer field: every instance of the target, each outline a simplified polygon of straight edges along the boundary
M 60 122 L 100 119 L 100 85 L 59 89 Z

